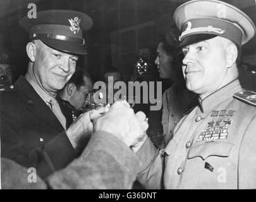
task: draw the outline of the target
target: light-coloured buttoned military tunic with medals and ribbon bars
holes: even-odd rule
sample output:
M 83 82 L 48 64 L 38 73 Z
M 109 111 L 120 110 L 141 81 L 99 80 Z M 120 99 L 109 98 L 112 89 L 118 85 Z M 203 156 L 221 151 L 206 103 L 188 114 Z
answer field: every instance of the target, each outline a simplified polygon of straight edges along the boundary
M 143 162 L 138 175 L 142 184 L 165 189 L 256 188 L 256 108 L 248 104 L 255 102 L 256 94 L 243 94 L 248 92 L 235 80 L 206 97 L 181 119 L 160 153 L 146 141 L 137 152 Z

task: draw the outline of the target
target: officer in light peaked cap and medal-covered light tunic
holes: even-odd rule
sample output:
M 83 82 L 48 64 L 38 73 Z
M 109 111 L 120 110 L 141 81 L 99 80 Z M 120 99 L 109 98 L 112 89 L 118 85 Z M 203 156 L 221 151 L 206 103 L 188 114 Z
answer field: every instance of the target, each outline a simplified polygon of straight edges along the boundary
M 199 104 L 164 150 L 144 141 L 138 178 L 148 188 L 255 189 L 256 93 L 241 88 L 237 64 L 255 25 L 240 9 L 216 0 L 182 4 L 174 22 L 186 87 Z

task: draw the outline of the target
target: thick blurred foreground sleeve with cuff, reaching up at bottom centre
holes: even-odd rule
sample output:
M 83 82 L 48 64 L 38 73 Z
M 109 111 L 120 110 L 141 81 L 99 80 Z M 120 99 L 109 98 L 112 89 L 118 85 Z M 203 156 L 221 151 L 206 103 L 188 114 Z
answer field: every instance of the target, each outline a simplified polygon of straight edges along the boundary
M 82 155 L 52 174 L 52 189 L 131 189 L 140 163 L 137 156 L 112 134 L 92 134 Z

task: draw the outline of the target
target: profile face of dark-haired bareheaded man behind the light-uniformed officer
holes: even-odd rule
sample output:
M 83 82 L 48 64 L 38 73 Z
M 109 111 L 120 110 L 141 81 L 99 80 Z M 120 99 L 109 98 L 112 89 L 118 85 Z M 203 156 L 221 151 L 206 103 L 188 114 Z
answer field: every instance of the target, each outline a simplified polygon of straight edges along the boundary
M 157 47 L 157 57 L 155 58 L 155 65 L 159 71 L 160 78 L 171 78 L 173 57 L 169 56 L 162 48 L 162 43 Z

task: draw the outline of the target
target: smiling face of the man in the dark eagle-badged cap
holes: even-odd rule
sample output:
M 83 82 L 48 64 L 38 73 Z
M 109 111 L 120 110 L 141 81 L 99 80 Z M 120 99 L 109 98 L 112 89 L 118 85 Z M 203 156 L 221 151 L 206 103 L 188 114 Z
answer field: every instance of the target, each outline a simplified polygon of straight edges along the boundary
M 61 90 L 75 72 L 78 56 L 59 52 L 42 42 L 36 45 L 33 72 L 37 83 L 48 93 Z

